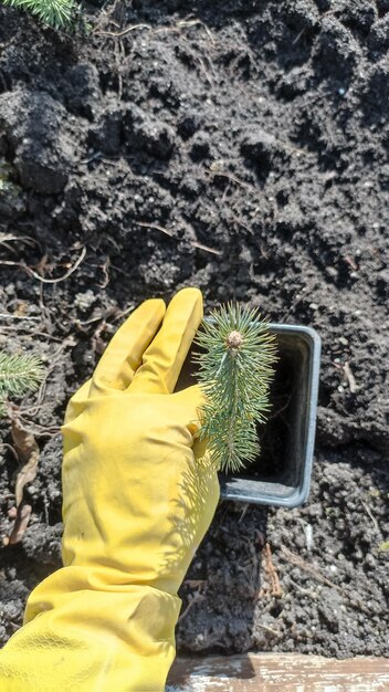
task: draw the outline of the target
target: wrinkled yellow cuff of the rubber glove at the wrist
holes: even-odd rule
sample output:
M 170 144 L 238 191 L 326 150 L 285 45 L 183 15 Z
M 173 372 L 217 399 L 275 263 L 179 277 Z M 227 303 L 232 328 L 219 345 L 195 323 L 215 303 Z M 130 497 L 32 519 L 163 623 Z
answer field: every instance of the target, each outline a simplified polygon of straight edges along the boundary
M 32 591 L 0 654 L 3 692 L 165 690 L 180 600 L 148 586 L 92 589 L 87 572 L 64 567 Z

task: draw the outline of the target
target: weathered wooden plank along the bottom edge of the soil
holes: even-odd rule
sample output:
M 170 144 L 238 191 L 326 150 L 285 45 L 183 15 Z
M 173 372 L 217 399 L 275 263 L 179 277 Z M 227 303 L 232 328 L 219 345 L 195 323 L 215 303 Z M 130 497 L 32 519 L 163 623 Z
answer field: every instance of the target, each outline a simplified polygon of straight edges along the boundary
M 166 692 L 389 692 L 389 659 L 295 653 L 177 659 Z

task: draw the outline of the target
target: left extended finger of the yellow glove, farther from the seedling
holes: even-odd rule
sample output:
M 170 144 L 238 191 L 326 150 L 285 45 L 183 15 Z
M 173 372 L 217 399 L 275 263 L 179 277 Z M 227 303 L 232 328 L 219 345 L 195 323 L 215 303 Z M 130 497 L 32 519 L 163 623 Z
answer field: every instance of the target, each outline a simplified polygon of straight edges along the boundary
M 125 390 L 165 315 L 162 300 L 145 301 L 116 332 L 94 371 L 90 396 Z

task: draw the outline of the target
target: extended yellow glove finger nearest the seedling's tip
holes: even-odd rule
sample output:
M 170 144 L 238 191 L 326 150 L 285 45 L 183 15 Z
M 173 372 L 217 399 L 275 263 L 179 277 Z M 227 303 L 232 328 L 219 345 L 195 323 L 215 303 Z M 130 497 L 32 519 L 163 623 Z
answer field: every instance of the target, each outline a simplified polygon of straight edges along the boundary
M 128 391 L 172 392 L 182 364 L 202 319 L 202 295 L 198 289 L 182 289 L 170 301 L 162 326 L 145 350 Z

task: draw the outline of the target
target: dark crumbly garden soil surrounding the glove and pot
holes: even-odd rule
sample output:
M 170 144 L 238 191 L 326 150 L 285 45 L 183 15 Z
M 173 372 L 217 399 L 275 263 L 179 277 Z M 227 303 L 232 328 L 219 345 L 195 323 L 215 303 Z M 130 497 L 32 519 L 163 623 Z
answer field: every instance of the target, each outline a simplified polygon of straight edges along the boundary
M 309 502 L 220 505 L 178 649 L 387 656 L 389 2 L 102 4 L 84 39 L 0 9 L 0 346 L 49 367 L 22 405 L 41 459 L 0 552 L 0 640 L 60 566 L 67 398 L 129 308 L 197 285 L 314 326 L 323 368 Z

